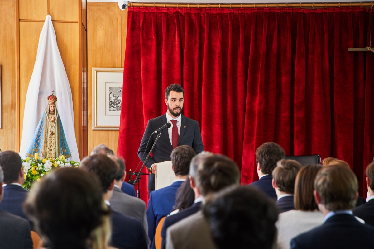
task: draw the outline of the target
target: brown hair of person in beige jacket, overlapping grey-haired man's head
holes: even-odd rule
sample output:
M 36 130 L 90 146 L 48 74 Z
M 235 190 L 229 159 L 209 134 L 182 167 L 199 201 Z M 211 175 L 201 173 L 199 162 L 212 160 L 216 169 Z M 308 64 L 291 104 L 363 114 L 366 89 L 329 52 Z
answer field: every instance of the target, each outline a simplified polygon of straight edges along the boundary
M 207 196 L 227 186 L 239 185 L 240 172 L 230 158 L 214 154 L 200 162 L 195 177 L 196 187 L 203 196 Z

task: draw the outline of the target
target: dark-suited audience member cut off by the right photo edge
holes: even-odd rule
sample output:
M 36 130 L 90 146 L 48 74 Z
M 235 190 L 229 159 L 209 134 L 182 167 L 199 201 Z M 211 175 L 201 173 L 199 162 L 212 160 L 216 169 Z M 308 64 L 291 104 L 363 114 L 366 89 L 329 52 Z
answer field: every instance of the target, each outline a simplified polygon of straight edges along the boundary
M 366 186 L 370 194 L 369 200 L 364 205 L 353 209 L 353 214 L 374 227 L 374 162 L 366 168 Z

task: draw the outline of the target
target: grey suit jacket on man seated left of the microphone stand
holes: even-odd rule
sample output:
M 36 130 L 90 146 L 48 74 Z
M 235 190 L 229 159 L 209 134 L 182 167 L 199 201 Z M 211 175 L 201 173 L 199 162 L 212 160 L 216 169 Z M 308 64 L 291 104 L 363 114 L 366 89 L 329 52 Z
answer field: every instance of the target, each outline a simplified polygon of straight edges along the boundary
M 110 207 L 114 211 L 123 215 L 131 216 L 140 220 L 144 229 L 144 236 L 147 245 L 151 243 L 148 237 L 147 215 L 145 214 L 147 209 L 145 208 L 145 202 L 143 200 L 125 194 L 117 186 L 114 186 L 113 195 L 110 199 Z

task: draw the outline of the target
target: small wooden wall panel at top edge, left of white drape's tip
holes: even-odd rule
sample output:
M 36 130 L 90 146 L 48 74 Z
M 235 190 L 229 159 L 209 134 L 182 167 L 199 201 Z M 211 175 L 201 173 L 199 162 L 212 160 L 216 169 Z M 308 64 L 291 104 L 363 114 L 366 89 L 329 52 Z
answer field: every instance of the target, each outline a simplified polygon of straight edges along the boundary
M 19 0 L 19 19 L 45 20 L 47 15 L 48 0 Z

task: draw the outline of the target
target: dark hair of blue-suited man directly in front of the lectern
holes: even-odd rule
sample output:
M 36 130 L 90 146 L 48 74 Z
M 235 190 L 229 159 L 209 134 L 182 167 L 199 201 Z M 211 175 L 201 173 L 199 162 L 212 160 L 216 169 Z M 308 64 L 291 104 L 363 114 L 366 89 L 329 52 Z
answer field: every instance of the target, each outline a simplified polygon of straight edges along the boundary
M 190 163 L 196 152 L 188 145 L 176 147 L 170 155 L 175 175 L 188 175 Z

